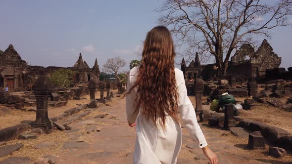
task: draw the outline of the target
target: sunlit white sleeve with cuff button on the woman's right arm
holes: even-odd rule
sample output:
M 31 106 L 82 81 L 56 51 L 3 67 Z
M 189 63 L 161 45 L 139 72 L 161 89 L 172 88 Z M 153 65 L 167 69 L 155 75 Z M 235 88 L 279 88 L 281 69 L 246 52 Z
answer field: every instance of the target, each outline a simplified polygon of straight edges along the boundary
M 195 109 L 194 106 L 187 95 L 187 88 L 184 79 L 183 72 L 179 72 L 179 79 L 178 79 L 178 94 L 179 94 L 179 103 L 178 108 L 180 115 L 182 117 L 183 122 L 186 124 L 187 129 L 191 135 L 191 137 L 199 143 L 199 147 L 203 148 L 206 147 L 207 141 L 204 137 L 204 134 L 197 123 L 196 116 L 195 116 Z

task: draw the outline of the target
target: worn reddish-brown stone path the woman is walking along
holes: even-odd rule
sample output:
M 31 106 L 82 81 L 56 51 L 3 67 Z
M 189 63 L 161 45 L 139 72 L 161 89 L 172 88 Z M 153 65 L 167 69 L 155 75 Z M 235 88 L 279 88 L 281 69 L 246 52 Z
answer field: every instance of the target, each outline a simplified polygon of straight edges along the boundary
M 57 164 L 132 164 L 135 128 L 129 127 L 126 122 L 125 100 L 117 97 L 109 104 L 110 106 L 101 105 L 82 120 L 71 123 L 71 130 L 55 130 L 52 134 L 41 135 L 38 139 L 32 139 L 27 143 L 23 140 L 24 148 L 9 157 L 14 159 L 30 157 L 33 163 L 45 159 L 45 162 L 50 160 Z M 104 118 L 98 116 L 103 114 Z M 224 138 L 222 130 L 209 128 L 205 124 L 201 124 L 201 127 L 210 148 L 218 155 L 220 164 L 275 162 L 257 155 L 250 156 L 251 151 L 245 150 L 244 145 L 234 145 L 230 139 Z M 27 146 L 28 144 L 30 145 Z M 30 153 L 26 153 L 27 151 Z M 4 160 L 7 159 L 8 157 Z M 11 161 L 11 158 L 9 160 Z M 2 161 L 0 164 L 6 162 Z M 183 146 L 178 164 L 207 164 L 207 162 L 197 143 L 190 138 L 186 128 L 183 128 Z

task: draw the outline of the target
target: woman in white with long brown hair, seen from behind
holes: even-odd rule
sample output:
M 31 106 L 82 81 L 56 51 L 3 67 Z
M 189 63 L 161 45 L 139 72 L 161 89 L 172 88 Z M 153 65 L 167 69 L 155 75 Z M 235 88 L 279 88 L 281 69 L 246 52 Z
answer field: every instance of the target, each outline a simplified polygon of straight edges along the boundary
M 183 72 L 174 67 L 174 50 L 168 29 L 155 27 L 147 33 L 141 65 L 130 71 L 125 96 L 129 126 L 137 124 L 133 162 L 176 164 L 182 146 L 180 113 L 199 148 L 218 164 L 197 123 Z

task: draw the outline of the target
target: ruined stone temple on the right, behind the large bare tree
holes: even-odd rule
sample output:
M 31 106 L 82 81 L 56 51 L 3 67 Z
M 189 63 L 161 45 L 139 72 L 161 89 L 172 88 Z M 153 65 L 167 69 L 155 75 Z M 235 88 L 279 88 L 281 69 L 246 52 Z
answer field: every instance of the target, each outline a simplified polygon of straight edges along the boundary
M 279 68 L 280 64 L 281 57 L 275 54 L 268 41 L 264 40 L 256 51 L 250 44 L 243 44 L 231 57 L 226 74 L 227 76 L 243 75 L 246 78 L 264 77 L 266 70 Z M 209 80 L 216 75 L 214 66 L 216 64 L 201 65 L 196 54 L 195 61 L 193 60 L 189 66 L 186 66 L 183 58 L 181 70 L 184 72 L 186 81 L 195 79 L 196 76 Z

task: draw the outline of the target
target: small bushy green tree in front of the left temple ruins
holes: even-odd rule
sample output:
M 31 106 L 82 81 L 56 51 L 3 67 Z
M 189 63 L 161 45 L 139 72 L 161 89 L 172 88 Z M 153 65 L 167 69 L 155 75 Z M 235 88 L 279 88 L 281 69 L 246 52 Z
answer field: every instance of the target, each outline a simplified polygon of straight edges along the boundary
M 69 69 L 59 69 L 54 72 L 50 77 L 50 81 L 56 86 L 70 86 L 73 82 L 73 76 L 76 74 L 76 71 L 72 71 Z

